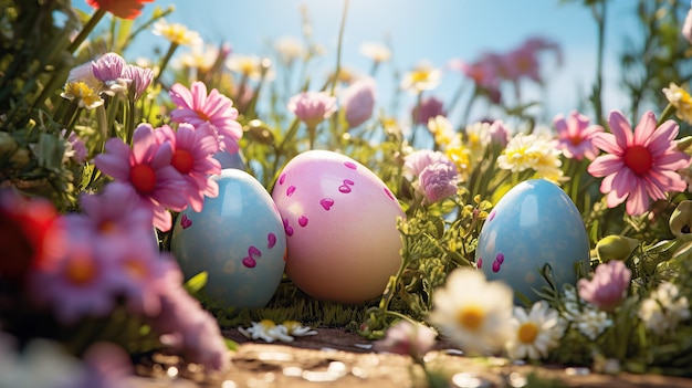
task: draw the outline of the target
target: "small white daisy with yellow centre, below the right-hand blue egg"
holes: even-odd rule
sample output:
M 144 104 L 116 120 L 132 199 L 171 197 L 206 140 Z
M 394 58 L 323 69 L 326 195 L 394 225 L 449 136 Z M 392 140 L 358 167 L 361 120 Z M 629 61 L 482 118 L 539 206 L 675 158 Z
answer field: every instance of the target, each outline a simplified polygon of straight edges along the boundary
M 512 359 L 546 358 L 565 333 L 559 314 L 545 301 L 534 303 L 528 314 L 522 307 L 514 307 L 512 326 L 514 337 L 506 344 L 507 355 Z

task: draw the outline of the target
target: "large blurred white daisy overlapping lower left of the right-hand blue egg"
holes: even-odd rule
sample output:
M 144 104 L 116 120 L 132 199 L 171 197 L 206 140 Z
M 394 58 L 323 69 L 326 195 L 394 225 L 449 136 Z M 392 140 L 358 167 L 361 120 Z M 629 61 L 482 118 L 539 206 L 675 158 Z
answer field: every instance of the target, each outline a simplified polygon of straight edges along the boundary
M 489 354 L 510 337 L 512 300 L 505 283 L 487 282 L 480 271 L 458 269 L 444 287 L 436 290 L 430 319 L 465 352 Z

